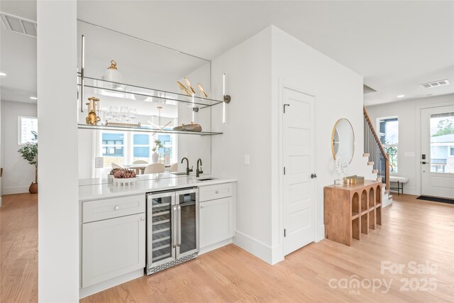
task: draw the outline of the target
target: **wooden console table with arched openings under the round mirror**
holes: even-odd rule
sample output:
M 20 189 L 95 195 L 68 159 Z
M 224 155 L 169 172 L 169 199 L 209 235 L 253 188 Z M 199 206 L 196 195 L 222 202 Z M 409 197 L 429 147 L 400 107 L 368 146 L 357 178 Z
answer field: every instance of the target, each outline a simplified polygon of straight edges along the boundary
M 382 225 L 382 182 L 331 185 L 323 193 L 326 238 L 351 246 L 352 238 L 360 240 L 361 233 Z

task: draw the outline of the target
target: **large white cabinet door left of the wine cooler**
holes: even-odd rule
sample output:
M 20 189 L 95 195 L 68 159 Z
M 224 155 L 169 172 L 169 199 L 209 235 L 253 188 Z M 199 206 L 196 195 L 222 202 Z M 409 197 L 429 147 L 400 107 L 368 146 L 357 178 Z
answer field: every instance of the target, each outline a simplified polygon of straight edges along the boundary
M 145 214 L 82 226 L 82 287 L 145 267 Z

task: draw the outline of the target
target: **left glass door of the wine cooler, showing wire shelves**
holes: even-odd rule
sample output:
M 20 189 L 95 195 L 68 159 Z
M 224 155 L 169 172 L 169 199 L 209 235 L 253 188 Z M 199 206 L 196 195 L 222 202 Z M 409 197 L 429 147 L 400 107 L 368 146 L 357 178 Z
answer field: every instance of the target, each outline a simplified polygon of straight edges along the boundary
M 175 192 L 147 196 L 147 268 L 175 260 Z

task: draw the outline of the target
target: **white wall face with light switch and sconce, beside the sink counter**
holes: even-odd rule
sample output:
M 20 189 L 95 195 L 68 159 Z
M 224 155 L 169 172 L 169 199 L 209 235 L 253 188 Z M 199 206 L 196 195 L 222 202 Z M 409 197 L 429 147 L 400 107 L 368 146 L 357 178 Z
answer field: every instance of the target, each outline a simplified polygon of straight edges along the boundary
M 212 62 L 212 89 L 222 99 L 222 74 L 232 97 L 222 124 L 222 104 L 213 106 L 212 172 L 235 177 L 236 244 L 263 260 L 271 260 L 271 28 Z M 250 165 L 244 165 L 250 155 Z

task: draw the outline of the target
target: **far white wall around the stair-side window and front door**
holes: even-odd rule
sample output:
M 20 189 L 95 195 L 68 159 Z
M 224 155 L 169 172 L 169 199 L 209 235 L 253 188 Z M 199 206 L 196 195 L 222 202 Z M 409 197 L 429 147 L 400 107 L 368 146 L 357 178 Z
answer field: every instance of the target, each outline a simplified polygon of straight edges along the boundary
M 377 127 L 377 118 L 389 116 L 397 116 L 399 118 L 398 171 L 395 175 L 409 178 L 409 182 L 404 184 L 404 192 L 406 194 L 421 194 L 421 160 L 419 154 L 421 146 L 418 146 L 421 134 L 417 133 L 417 126 L 420 123 L 420 109 L 421 107 L 448 104 L 454 104 L 454 94 L 366 106 L 367 114 L 372 119 L 372 123 L 375 123 L 375 128 Z M 414 153 L 414 155 L 411 155 L 411 153 Z

